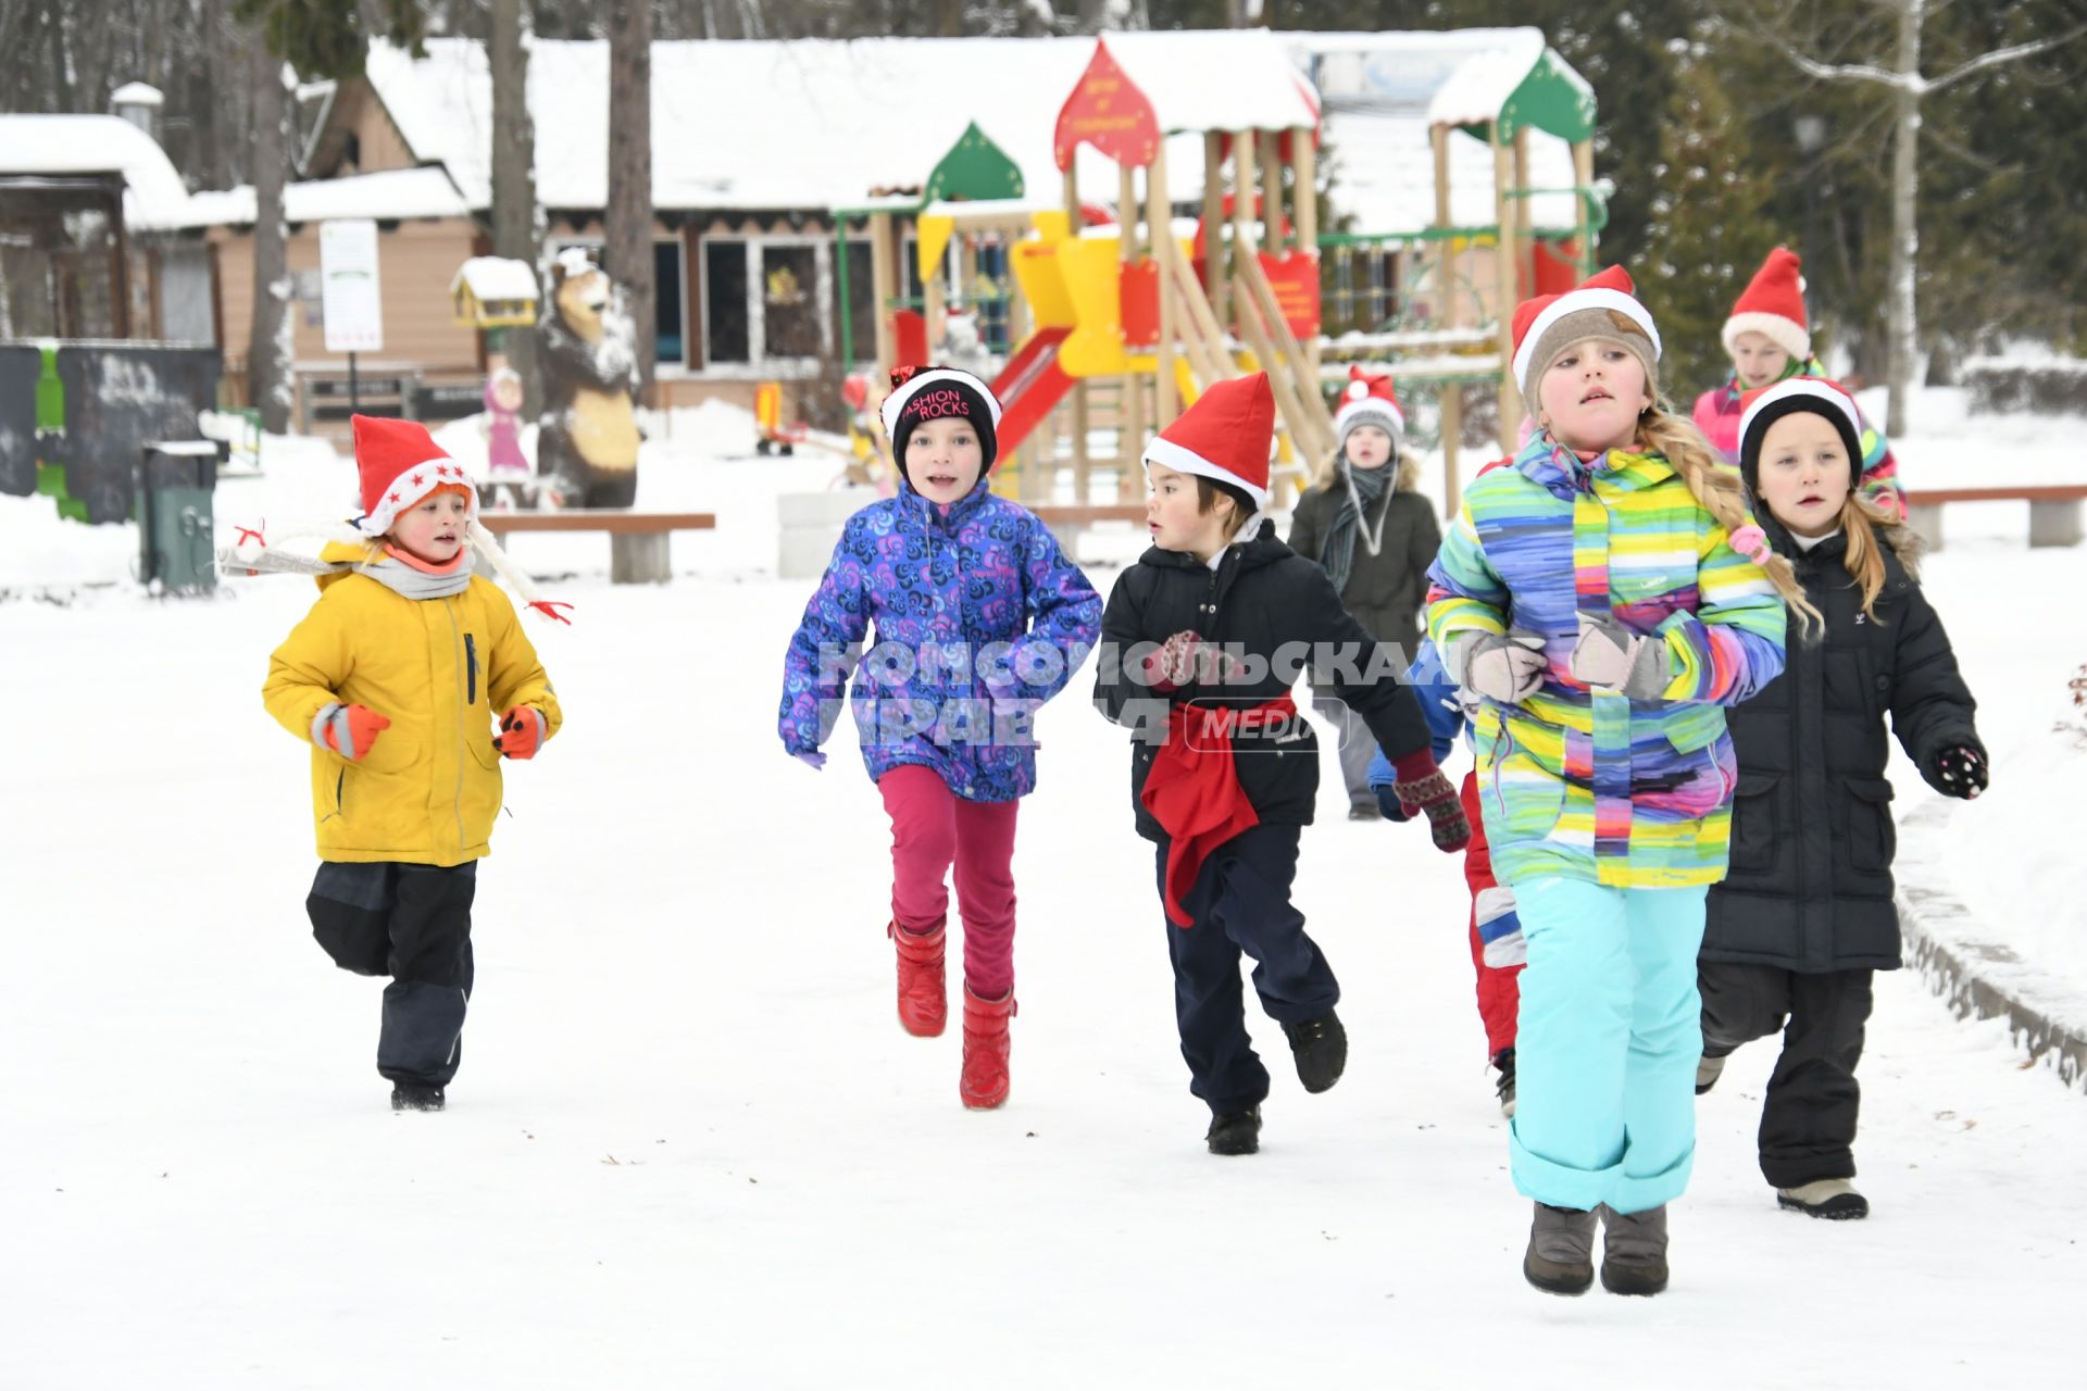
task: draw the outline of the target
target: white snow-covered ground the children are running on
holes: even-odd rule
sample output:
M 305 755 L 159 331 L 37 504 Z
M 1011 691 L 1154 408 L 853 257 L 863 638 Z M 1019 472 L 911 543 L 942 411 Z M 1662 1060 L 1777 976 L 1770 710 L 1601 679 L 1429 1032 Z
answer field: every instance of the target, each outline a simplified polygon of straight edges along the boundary
M 386 1109 L 378 984 L 336 972 L 303 916 L 305 753 L 259 684 L 307 584 L 157 603 L 117 582 L 125 528 L 0 498 L 0 1385 L 2077 1374 L 2087 1105 L 1910 972 L 1880 982 L 1862 1070 L 1872 1220 L 1776 1212 L 1755 1045 L 1699 1107 L 1674 1289 L 1530 1291 L 1459 868 L 1419 828 L 1340 820 L 1332 784 L 1298 895 L 1346 991 L 1348 1076 L 1306 1097 L 1261 1022 L 1265 1151 L 1204 1155 L 1123 740 L 1085 682 L 1046 709 L 1023 805 L 1014 1095 L 966 1114 L 956 1032 L 893 1020 L 887 832 L 851 726 L 824 774 L 772 736 L 810 590 L 770 578 L 772 494 L 839 461 L 710 459 L 751 432 L 699 415 L 643 475 L 647 505 L 720 513 L 676 538 L 672 586 L 609 586 L 599 536 L 518 538 L 578 605 L 536 628 L 570 724 L 509 767 L 442 1116 Z M 349 496 L 323 446 L 269 450 L 265 478 L 221 486 L 225 528 Z M 2081 868 L 2024 851 L 2074 820 L 2031 774 L 2087 657 L 2077 605 L 2045 599 L 2087 553 L 1972 515 L 1928 565 L 1997 755 L 1991 797 L 1953 809 L 1978 828 L 1960 886 L 1976 899 L 1976 847 L 2006 905 L 2022 855 L 2060 895 L 2037 949 L 2087 976 Z M 1933 799 L 1893 780 L 1901 815 Z

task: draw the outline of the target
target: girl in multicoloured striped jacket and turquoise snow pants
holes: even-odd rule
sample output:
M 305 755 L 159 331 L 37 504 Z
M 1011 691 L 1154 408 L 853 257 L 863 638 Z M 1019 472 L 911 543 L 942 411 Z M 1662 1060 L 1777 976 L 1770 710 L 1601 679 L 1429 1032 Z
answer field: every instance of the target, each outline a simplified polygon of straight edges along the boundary
M 1428 636 L 1473 699 L 1494 874 L 1528 943 L 1509 1126 L 1538 1289 L 1651 1295 L 1695 1153 L 1695 955 L 1726 870 L 1724 707 L 1782 669 L 1789 561 L 1659 407 L 1659 330 L 1609 269 L 1515 311 L 1538 434 L 1480 475 L 1430 569 Z

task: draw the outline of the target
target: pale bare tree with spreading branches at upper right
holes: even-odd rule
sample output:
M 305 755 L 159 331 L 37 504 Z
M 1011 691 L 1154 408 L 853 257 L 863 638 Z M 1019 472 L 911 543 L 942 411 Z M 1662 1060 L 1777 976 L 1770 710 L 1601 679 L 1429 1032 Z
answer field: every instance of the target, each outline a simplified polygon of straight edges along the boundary
M 1918 292 L 1916 273 L 1920 267 L 1920 100 L 1949 88 L 1976 73 L 1991 71 L 2004 63 L 2018 63 L 2033 54 L 2070 44 L 2087 33 L 2087 25 L 2074 25 L 2049 38 L 2026 44 L 2010 44 L 1978 54 L 1941 77 L 1920 73 L 1920 29 L 1928 15 L 1949 0 L 1882 0 L 1897 19 L 1897 52 L 1893 67 L 1876 63 L 1822 63 L 1799 52 L 1780 29 L 1759 29 L 1776 44 L 1803 73 L 1826 81 L 1868 81 L 1891 90 L 1893 136 L 1891 136 L 1891 300 L 1885 317 L 1887 357 L 1891 363 L 1891 392 L 1885 409 L 1885 432 L 1903 434 L 1905 402 L 1914 384 L 1914 359 L 1918 357 Z

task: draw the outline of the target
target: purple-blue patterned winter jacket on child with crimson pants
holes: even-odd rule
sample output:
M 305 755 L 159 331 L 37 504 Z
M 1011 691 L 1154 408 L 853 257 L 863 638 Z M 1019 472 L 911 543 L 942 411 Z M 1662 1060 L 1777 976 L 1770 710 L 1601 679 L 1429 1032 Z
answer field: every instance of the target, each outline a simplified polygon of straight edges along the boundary
M 847 519 L 791 634 L 783 747 L 818 749 L 845 692 L 872 782 L 920 763 L 968 801 L 1025 797 L 1037 782 L 1035 709 L 1100 628 L 1102 596 L 1027 507 L 985 478 L 947 507 L 902 482 Z

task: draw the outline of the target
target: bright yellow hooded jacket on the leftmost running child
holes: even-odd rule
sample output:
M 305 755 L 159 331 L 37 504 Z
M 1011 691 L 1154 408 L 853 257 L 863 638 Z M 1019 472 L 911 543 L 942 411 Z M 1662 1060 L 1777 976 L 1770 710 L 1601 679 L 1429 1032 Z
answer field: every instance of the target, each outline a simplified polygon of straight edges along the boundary
M 376 555 L 330 544 L 321 559 Z M 390 719 L 361 761 L 311 745 L 311 813 L 319 859 L 332 861 L 486 855 L 501 809 L 499 717 L 534 705 L 545 738 L 563 724 L 513 605 L 482 578 L 447 599 L 407 599 L 369 576 L 319 576 L 319 603 L 269 657 L 261 701 L 307 745 L 336 701 Z

